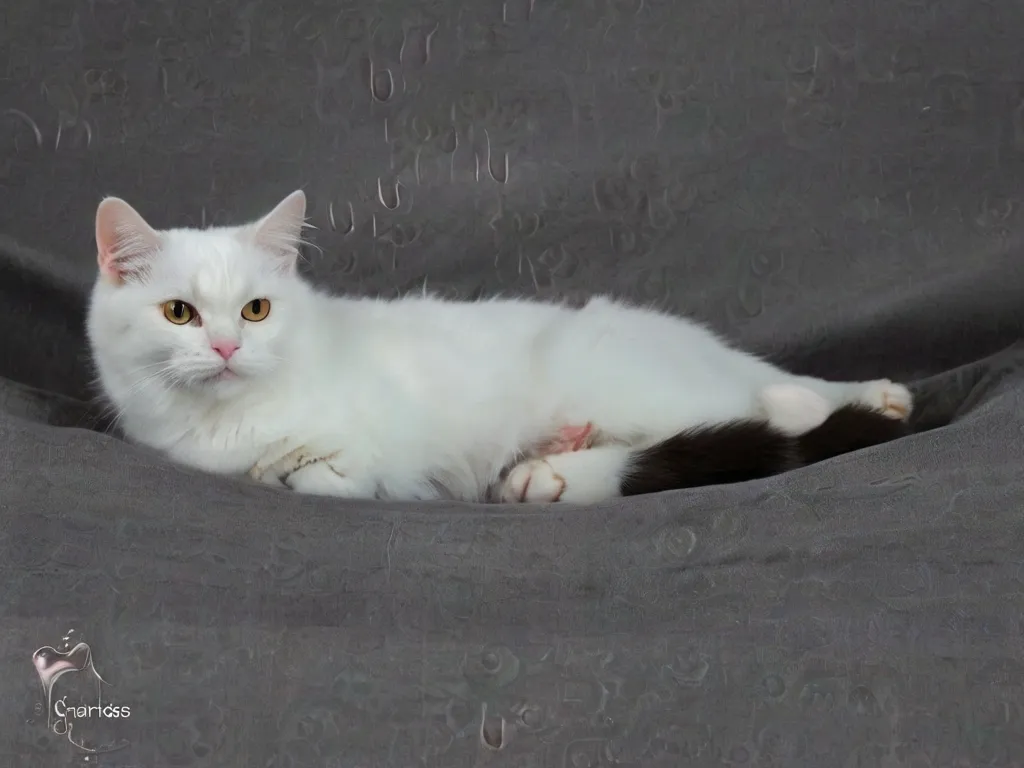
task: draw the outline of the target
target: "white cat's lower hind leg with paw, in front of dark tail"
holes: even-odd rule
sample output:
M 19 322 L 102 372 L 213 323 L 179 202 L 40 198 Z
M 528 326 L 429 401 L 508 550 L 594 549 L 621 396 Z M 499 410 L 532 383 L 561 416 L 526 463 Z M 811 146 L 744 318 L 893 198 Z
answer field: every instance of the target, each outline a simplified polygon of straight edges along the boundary
M 501 486 L 501 501 L 508 504 L 568 502 L 593 504 L 622 496 L 622 480 L 629 466 L 627 445 L 599 445 L 529 459 L 517 464 Z

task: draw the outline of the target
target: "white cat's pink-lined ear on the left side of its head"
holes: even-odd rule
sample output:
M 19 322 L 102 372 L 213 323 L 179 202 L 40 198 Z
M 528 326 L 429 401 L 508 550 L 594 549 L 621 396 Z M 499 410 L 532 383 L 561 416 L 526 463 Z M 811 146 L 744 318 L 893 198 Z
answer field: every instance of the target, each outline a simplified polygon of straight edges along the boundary
M 160 232 L 120 198 L 104 198 L 96 209 L 96 261 L 114 283 L 124 283 L 144 271 L 160 251 Z

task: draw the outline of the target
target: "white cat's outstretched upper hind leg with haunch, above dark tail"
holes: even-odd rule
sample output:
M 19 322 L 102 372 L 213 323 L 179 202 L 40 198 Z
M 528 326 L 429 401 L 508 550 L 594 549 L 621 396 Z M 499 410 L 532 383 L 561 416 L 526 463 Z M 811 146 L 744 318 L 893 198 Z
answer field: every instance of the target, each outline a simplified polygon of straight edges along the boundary
M 779 412 L 784 418 L 773 426 L 787 434 L 813 429 L 818 420 L 848 404 L 893 418 L 905 416 L 912 404 L 902 385 L 826 382 L 791 374 L 724 343 L 697 324 L 607 300 L 596 299 L 567 315 L 541 338 L 534 355 L 540 386 L 560 404 L 562 423 L 592 421 L 602 435 L 629 443 L 737 419 L 773 422 L 765 395 L 782 399 L 782 393 L 766 390 L 782 385 L 817 395 L 795 398 L 807 403 L 806 414 Z M 822 413 L 822 400 L 827 413 Z

